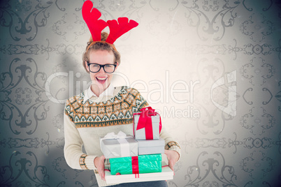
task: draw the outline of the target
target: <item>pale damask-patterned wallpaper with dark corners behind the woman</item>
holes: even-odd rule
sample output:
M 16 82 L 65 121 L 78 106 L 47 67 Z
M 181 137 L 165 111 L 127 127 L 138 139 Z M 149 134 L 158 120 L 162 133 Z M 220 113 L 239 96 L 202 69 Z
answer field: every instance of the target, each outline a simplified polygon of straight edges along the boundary
M 63 156 L 64 102 L 87 89 L 83 1 L 0 3 L 0 186 L 97 186 Z M 114 83 L 136 87 L 178 138 L 168 186 L 281 186 L 281 1 L 96 0 L 139 26 L 116 42 Z

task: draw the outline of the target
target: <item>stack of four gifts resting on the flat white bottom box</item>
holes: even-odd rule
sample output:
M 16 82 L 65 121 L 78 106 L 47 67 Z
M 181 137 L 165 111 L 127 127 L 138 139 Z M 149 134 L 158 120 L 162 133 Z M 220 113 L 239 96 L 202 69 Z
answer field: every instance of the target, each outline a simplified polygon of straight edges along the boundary
M 161 119 L 151 107 L 134 114 L 134 137 L 119 132 L 101 138 L 101 151 L 110 162 L 110 174 L 161 172 L 165 141 L 160 138 Z

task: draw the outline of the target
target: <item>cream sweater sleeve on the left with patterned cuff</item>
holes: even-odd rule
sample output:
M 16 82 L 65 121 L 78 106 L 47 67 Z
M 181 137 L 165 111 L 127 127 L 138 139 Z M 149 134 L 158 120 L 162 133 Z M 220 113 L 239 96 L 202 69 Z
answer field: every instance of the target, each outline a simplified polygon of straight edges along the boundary
M 67 113 L 67 112 L 66 112 Z M 82 152 L 82 140 L 75 124 L 68 114 L 64 114 L 64 158 L 66 163 L 77 170 L 94 170 L 94 158 Z

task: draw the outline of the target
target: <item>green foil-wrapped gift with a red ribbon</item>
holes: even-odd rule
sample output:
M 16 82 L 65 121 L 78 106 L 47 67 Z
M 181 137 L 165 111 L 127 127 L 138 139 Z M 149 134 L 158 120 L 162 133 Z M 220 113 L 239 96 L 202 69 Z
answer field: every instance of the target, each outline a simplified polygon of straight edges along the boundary
M 110 174 L 138 174 L 161 172 L 161 154 L 109 158 Z

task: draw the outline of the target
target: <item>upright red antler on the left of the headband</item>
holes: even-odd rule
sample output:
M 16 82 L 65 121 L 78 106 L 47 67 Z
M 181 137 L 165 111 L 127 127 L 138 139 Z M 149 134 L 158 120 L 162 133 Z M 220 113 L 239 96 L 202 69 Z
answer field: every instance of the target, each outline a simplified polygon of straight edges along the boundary
M 101 13 L 98 9 L 92 8 L 92 1 L 85 1 L 82 6 L 82 16 L 89 27 L 93 41 L 99 41 L 101 40 L 101 31 L 106 28 L 108 24 L 103 20 L 98 20 L 99 17 L 101 17 Z

